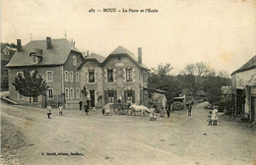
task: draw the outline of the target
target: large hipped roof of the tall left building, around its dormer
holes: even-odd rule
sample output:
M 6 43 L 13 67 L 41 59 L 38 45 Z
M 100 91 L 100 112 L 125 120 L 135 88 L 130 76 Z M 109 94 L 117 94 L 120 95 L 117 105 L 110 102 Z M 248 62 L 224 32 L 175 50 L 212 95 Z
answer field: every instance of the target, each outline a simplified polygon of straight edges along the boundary
M 36 66 L 63 65 L 71 51 L 81 53 L 67 39 L 51 39 L 52 47 L 46 49 L 46 40 L 32 40 L 16 52 L 6 67 L 35 66 L 31 64 L 30 54 L 36 49 L 43 51 L 42 60 Z M 82 55 L 82 53 L 81 53 Z

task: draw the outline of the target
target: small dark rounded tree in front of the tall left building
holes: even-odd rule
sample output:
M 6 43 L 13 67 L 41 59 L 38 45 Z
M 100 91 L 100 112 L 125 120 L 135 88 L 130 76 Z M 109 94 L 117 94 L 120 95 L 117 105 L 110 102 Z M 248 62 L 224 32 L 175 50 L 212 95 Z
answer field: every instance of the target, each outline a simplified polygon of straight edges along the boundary
M 13 85 L 19 94 L 30 97 L 30 102 L 32 102 L 32 97 L 45 94 L 48 89 L 47 83 L 38 75 L 38 71 L 30 72 L 29 69 L 24 70 L 24 76 L 18 75 Z

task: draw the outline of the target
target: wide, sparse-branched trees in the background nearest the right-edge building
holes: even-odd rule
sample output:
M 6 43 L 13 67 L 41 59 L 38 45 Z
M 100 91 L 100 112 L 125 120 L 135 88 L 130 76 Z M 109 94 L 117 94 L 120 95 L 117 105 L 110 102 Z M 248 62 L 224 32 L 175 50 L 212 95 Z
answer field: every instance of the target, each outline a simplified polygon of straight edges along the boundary
M 221 100 L 222 86 L 228 85 L 230 80 L 226 72 L 217 73 L 204 63 L 188 64 L 178 80 L 183 88 L 189 89 L 193 97 L 199 90 L 203 90 L 211 104 L 218 104 Z

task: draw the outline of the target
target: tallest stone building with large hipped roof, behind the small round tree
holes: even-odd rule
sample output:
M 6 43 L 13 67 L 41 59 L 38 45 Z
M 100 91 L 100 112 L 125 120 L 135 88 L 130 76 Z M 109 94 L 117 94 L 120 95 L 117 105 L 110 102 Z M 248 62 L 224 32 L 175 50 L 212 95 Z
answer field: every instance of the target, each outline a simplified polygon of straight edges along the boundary
M 81 99 L 78 66 L 83 61 L 82 53 L 67 39 L 32 40 L 22 47 L 18 39 L 18 52 L 7 64 L 9 70 L 10 98 L 19 104 L 28 104 L 30 99 L 20 95 L 12 84 L 24 69 L 37 70 L 49 86 L 46 95 L 32 98 L 33 106 L 45 107 L 66 103 L 66 108 L 78 106 Z

